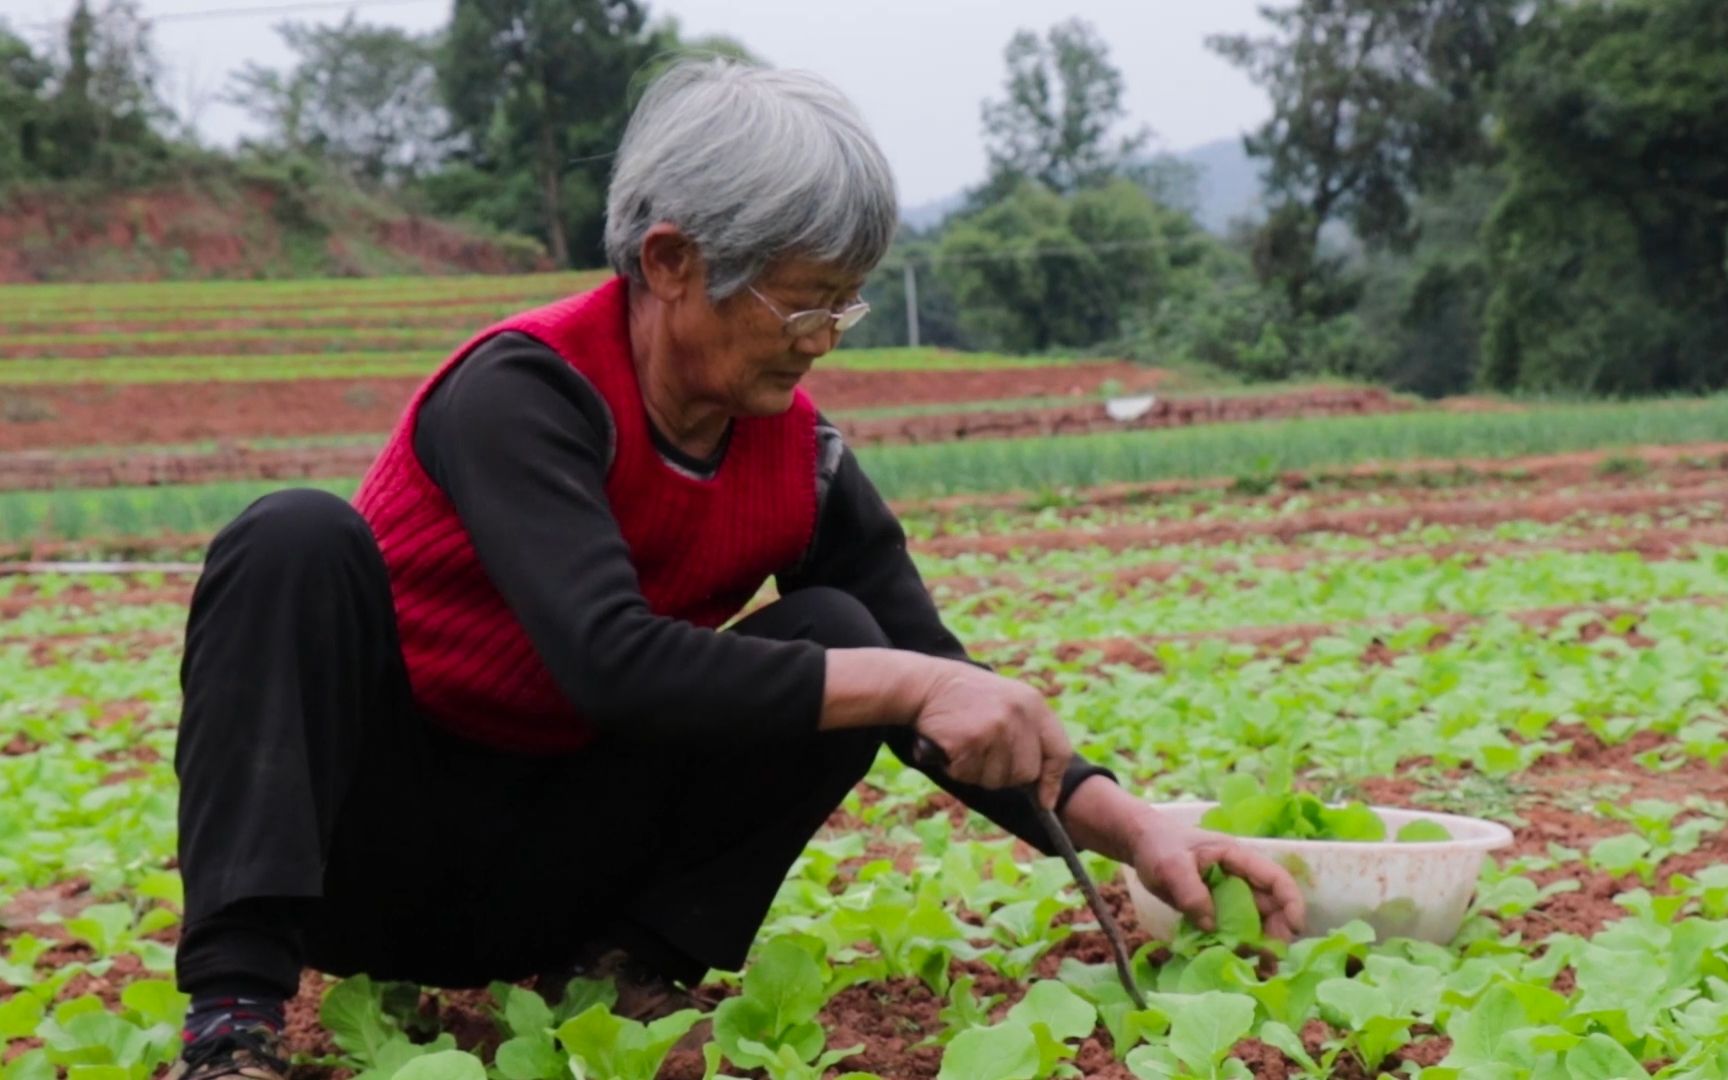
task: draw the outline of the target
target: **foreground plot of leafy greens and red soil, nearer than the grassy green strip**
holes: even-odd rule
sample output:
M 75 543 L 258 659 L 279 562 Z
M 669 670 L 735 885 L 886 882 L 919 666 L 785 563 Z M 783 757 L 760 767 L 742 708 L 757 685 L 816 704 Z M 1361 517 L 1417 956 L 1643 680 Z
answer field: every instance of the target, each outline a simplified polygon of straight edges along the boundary
M 1446 945 L 1282 945 L 1239 911 L 1153 940 L 1089 857 L 1135 1009 L 1061 862 L 885 755 L 748 973 L 707 983 L 703 1049 L 670 1051 L 689 1016 L 612 1018 L 601 985 L 555 1011 L 309 973 L 297 1075 L 1723 1077 L 1728 484 L 1699 454 L 1607 460 L 904 508 L 961 636 L 1147 798 L 1249 778 L 1512 826 Z M 24 809 L 0 823 L 5 1080 L 142 1080 L 176 1049 L 185 589 L 0 579 L 0 791 Z

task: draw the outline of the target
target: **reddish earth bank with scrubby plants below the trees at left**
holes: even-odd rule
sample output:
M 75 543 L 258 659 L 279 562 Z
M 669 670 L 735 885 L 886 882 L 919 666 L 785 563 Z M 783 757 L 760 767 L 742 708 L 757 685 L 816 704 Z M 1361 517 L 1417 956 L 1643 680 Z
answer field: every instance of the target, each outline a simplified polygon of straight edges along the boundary
M 218 173 L 0 197 L 0 285 L 530 270 L 551 270 L 536 240 L 415 214 L 327 178 Z

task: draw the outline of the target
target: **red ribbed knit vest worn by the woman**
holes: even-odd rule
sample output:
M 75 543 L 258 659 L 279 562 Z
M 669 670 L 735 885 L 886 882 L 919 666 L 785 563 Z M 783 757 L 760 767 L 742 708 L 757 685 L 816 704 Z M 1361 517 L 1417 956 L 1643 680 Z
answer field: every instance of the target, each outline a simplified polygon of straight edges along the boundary
M 778 416 L 734 420 L 712 479 L 672 470 L 650 437 L 626 299 L 626 282 L 613 278 L 482 330 L 410 399 L 354 496 L 389 567 L 415 702 L 465 738 L 536 753 L 594 738 L 415 456 L 420 404 L 487 337 L 518 330 L 539 339 L 605 399 L 617 437 L 607 499 L 653 613 L 719 627 L 771 574 L 793 565 L 816 530 L 816 406 L 804 391 Z

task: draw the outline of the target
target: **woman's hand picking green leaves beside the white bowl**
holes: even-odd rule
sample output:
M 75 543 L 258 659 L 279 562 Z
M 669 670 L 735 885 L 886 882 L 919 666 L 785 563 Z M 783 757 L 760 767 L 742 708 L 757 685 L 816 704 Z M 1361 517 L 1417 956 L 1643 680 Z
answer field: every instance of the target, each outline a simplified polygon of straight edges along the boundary
M 1267 935 L 1287 942 L 1301 931 L 1306 919 L 1306 905 L 1289 871 L 1223 833 L 1158 819 L 1139 829 L 1132 862 L 1140 883 L 1154 897 L 1206 931 L 1217 926 L 1211 892 L 1204 881 L 1213 866 L 1248 883 Z

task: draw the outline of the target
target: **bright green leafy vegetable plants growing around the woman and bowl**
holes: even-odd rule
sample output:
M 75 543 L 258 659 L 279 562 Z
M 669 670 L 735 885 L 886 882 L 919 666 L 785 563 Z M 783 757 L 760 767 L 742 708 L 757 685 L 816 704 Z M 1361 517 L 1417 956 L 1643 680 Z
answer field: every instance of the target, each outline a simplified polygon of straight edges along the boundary
M 1559 804 L 1536 807 L 1529 791 L 1567 746 L 1645 746 L 1610 778 L 1645 797 L 1569 786 L 1569 805 L 1597 816 L 1588 838 L 1543 845 L 1521 829 L 1519 855 L 1488 873 L 1452 947 L 1372 942 L 1362 928 L 1282 947 L 1230 919 L 1222 937 L 1137 938 L 1135 971 L 1153 994 L 1153 1007 L 1137 1011 L 1087 947 L 1085 918 L 1070 914 L 1077 897 L 1061 866 L 1016 857 L 976 819 L 928 814 L 926 783 L 885 757 L 869 797 L 847 800 L 854 826 L 821 836 L 781 888 L 736 987 L 745 1004 L 717 1018 L 714 1064 L 769 1077 L 814 1078 L 838 1061 L 893 1077 L 1035 1078 L 1082 1061 L 1090 1077 L 1203 1077 L 1242 1075 L 1244 1056 L 1272 1054 L 1293 1075 L 1317 1077 L 1343 1063 L 1372 1073 L 1400 1061 L 1426 1063 L 1433 1080 L 1624 1077 L 1643 1063 L 1662 1077 L 1719 1075 L 1711 1070 L 1728 1047 L 1719 997 L 1728 881 L 1697 867 L 1716 857 L 1728 805 L 1721 785 L 1697 785 L 1693 798 L 1650 791 L 1721 753 L 1728 612 L 1662 598 L 1697 577 L 1623 581 L 1612 560 L 1483 570 L 1495 567 L 1509 575 L 1500 588 L 1543 601 L 1555 601 L 1550 589 L 1564 582 L 1609 579 L 1598 591 L 1626 593 L 1643 608 L 1636 639 L 1619 624 L 1586 632 L 1597 626 L 1590 619 L 1538 629 L 1488 617 L 1453 634 L 1420 622 L 1343 629 L 1299 657 L 1229 641 L 1165 643 L 1159 669 L 1147 672 L 1064 657 L 1063 631 L 1051 622 L 1007 669 L 1051 686 L 1077 745 L 1151 797 L 1208 795 L 1230 774 L 1301 776 L 1324 795 L 1401 776 L 1431 805 L 1548 807 L 1541 812 L 1552 817 L 1564 812 Z M 1132 624 L 1158 600 L 1121 603 Z M 175 613 L 150 612 L 131 626 Z M 90 626 L 118 629 L 95 615 Z M 1375 646 L 1389 658 L 1367 662 Z M 41 1044 L 14 1059 L 9 1080 L 71 1063 L 142 1080 L 173 1052 L 185 1007 L 169 983 L 178 880 L 164 869 L 176 657 L 164 648 L 118 660 L 43 667 L 22 646 L 0 646 L 0 743 L 9 748 L 0 795 L 28 807 L 33 823 L 0 829 L 0 880 L 14 890 L 52 888 L 73 874 L 88 881 L 59 921 L 28 919 L 5 940 L 0 978 L 10 990 L 0 1028 Z M 1543 924 L 1536 916 L 1567 911 L 1598 883 L 1619 899 L 1598 924 L 1557 931 L 1550 921 L 1533 931 Z M 1244 945 L 1255 959 L 1239 956 Z M 118 994 L 92 990 L 104 973 Z M 880 1045 L 854 1049 L 842 1002 L 861 994 L 931 1007 L 902 1018 L 912 1039 L 885 1056 Z M 572 1063 L 577 1075 L 646 1078 L 670 1044 L 669 1028 L 612 1018 L 603 987 L 584 988 L 560 1013 L 513 987 L 480 994 L 475 1016 L 496 1007 L 511 1047 L 496 1054 L 456 1047 L 451 1035 L 411 1042 L 392 999 L 366 980 L 330 990 L 321 1006 L 334 1042 L 316 1047 L 320 1059 L 404 1080 L 479 1080 L 487 1066 L 550 1080 Z M 738 1023 L 771 1001 L 776 1020 L 746 1045 Z

